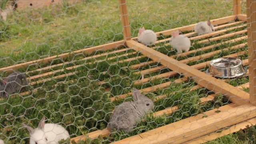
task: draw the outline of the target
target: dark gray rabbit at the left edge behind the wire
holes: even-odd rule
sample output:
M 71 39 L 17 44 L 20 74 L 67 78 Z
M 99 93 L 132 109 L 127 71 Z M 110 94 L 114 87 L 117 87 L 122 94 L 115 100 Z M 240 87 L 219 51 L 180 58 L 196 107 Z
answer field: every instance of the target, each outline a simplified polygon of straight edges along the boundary
M 8 97 L 9 94 L 19 92 L 20 89 L 26 85 L 28 85 L 26 74 L 17 71 L 13 72 L 0 82 L 0 98 Z

